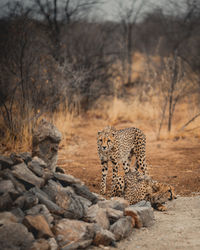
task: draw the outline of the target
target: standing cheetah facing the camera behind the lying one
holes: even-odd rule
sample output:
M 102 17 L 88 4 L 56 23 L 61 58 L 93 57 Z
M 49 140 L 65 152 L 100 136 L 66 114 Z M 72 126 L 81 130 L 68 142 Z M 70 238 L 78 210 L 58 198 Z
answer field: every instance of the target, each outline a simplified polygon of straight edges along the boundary
M 100 193 L 106 193 L 108 162 L 112 163 L 112 183 L 118 174 L 119 164 L 128 172 L 133 155 L 136 157 L 136 170 L 146 174 L 146 136 L 138 128 L 116 130 L 107 126 L 97 135 L 98 154 L 102 166 Z

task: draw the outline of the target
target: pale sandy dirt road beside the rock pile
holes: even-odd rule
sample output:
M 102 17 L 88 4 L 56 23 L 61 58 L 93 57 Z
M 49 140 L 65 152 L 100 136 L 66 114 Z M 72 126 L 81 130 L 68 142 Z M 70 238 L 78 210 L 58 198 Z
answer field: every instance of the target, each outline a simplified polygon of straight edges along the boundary
M 115 249 L 199 250 L 200 196 L 178 197 L 169 202 L 166 212 L 155 211 L 153 226 L 135 229 Z

